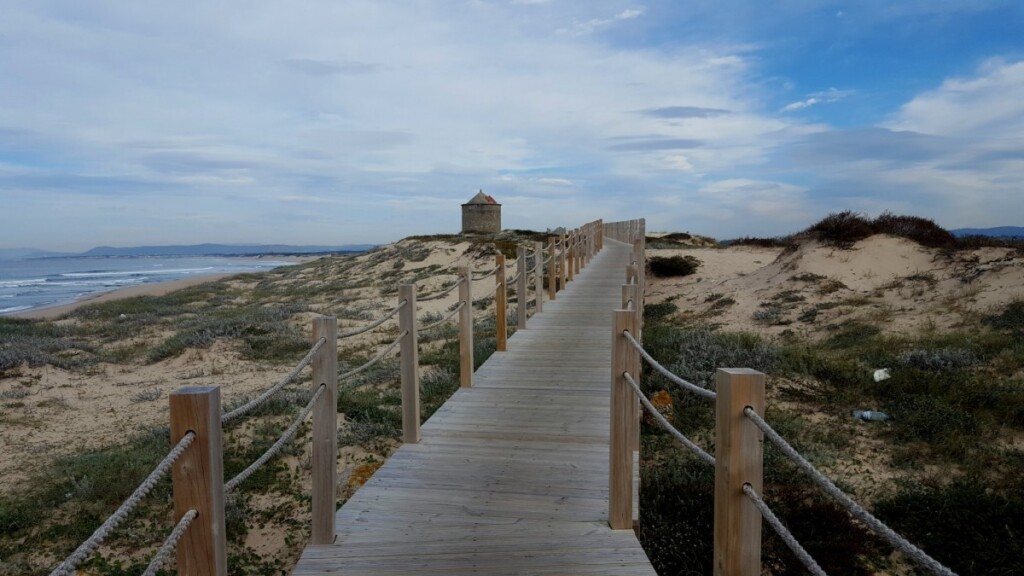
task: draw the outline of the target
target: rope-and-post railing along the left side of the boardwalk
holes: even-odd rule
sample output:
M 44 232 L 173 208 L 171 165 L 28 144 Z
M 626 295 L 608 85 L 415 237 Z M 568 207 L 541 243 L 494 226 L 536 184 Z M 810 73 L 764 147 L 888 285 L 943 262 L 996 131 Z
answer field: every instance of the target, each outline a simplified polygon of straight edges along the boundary
M 581 243 L 578 237 L 571 237 L 568 238 L 566 241 L 560 241 L 553 245 L 549 244 L 548 246 L 555 246 L 555 247 L 561 246 L 562 249 L 564 250 L 567 249 L 568 246 L 573 246 L 573 247 L 580 246 L 581 248 L 584 248 L 585 244 Z M 171 429 L 172 430 L 178 429 L 181 431 L 188 430 L 188 431 L 184 433 L 184 435 L 181 437 L 181 440 L 165 456 L 165 458 L 157 465 L 157 467 L 154 468 L 153 471 L 151 471 L 148 477 L 144 481 L 142 481 L 142 483 L 138 487 L 136 487 L 136 489 L 132 492 L 131 496 L 129 496 L 121 504 L 121 506 L 119 506 L 118 509 L 114 513 L 112 513 L 85 542 L 83 542 L 78 548 L 76 548 L 71 553 L 71 556 L 69 556 L 63 562 L 61 562 L 60 565 L 53 570 L 51 576 L 56 576 L 56 575 L 72 576 L 75 573 L 76 568 L 85 560 L 87 560 L 89 554 L 93 553 L 101 545 L 104 538 L 106 538 L 121 523 L 123 523 L 124 520 L 126 520 L 126 518 L 131 513 L 131 511 L 135 507 L 137 507 L 140 500 L 144 498 L 152 491 L 155 484 L 158 483 L 160 479 L 164 478 L 172 466 L 181 465 L 181 464 L 175 464 L 175 462 L 177 462 L 179 459 L 184 460 L 185 458 L 188 459 L 188 462 L 193 461 L 191 458 L 195 458 L 194 451 L 187 452 L 184 458 L 182 458 L 182 454 L 185 454 L 185 450 L 189 446 L 199 445 L 200 443 L 203 443 L 202 444 L 202 446 L 204 446 L 203 450 L 209 451 L 211 455 L 219 454 L 220 451 L 223 449 L 223 446 L 221 445 L 220 442 L 216 442 L 215 439 L 219 438 L 220 434 L 219 430 L 221 425 L 227 422 L 234 421 L 247 414 L 252 413 L 257 408 L 268 402 L 272 397 L 274 397 L 274 395 L 279 394 L 286 386 L 288 386 L 291 383 L 295 383 L 297 380 L 299 380 L 303 370 L 305 370 L 308 367 L 312 367 L 313 378 L 317 383 L 319 383 L 319 385 L 315 388 L 315 390 L 309 398 L 308 402 L 295 416 L 294 420 L 290 423 L 290 425 L 284 430 L 284 433 L 282 433 L 282 435 L 273 442 L 273 444 L 265 452 L 263 452 L 263 454 L 261 454 L 255 461 L 250 463 L 248 466 L 246 466 L 245 469 L 243 469 L 241 472 L 234 476 L 234 478 L 228 480 L 227 482 L 223 482 L 222 478 L 213 479 L 212 483 L 208 481 L 209 479 L 203 481 L 199 481 L 197 479 L 190 479 L 187 481 L 182 481 L 183 484 L 179 486 L 179 479 L 175 478 L 174 494 L 176 502 L 179 501 L 178 500 L 179 488 L 183 489 L 185 491 L 184 493 L 189 495 L 187 496 L 189 498 L 196 494 L 206 494 L 207 496 L 202 497 L 205 499 L 201 498 L 200 500 L 191 500 L 194 502 L 200 502 L 200 503 L 194 503 L 193 504 L 194 507 L 185 511 L 178 519 L 177 523 L 171 529 L 170 534 L 160 545 L 156 554 L 150 561 L 150 564 L 145 568 L 143 574 L 145 574 L 146 576 L 155 576 L 157 573 L 159 573 L 163 569 L 164 565 L 167 564 L 170 558 L 175 553 L 175 550 L 178 548 L 179 543 L 181 546 L 186 546 L 188 550 L 193 550 L 193 547 L 196 545 L 212 546 L 212 548 L 206 547 L 205 549 L 216 550 L 212 552 L 212 554 L 216 554 L 216 558 L 220 559 L 217 562 L 223 562 L 224 559 L 223 554 L 225 553 L 223 542 L 217 543 L 216 541 L 214 541 L 216 539 L 216 536 L 214 537 L 214 540 L 209 540 L 207 539 L 207 536 L 202 536 L 202 538 L 204 539 L 202 544 L 194 544 L 193 540 L 195 539 L 195 537 L 182 540 L 182 538 L 184 538 L 184 536 L 189 533 L 189 530 L 196 531 L 197 529 L 199 529 L 201 530 L 201 532 L 207 530 L 208 527 L 206 524 L 202 522 L 196 523 L 197 519 L 200 519 L 200 517 L 206 517 L 210 511 L 206 507 L 204 507 L 207 504 L 202 502 L 215 502 L 219 498 L 214 498 L 211 495 L 219 493 L 221 489 L 223 489 L 224 493 L 234 493 L 236 491 L 238 491 L 242 484 L 244 484 L 247 480 L 249 480 L 262 466 L 266 465 L 266 463 L 269 462 L 271 458 L 274 458 L 276 455 L 279 455 L 286 444 L 292 442 L 295 439 L 299 429 L 301 428 L 303 423 L 307 421 L 307 419 L 310 417 L 311 414 L 314 414 L 313 416 L 314 439 L 322 439 L 322 434 L 324 430 L 321 428 L 324 427 L 323 426 L 324 421 L 322 421 L 321 418 L 322 417 L 327 418 L 327 422 L 330 422 L 331 421 L 329 417 L 330 412 L 333 412 L 333 408 L 330 410 L 329 408 L 331 408 L 330 405 L 333 404 L 333 399 L 335 398 L 336 394 L 336 387 L 334 387 L 336 385 L 336 382 L 334 380 L 335 376 L 337 376 L 338 379 L 345 379 L 355 376 L 356 374 L 362 372 L 364 370 L 367 370 L 373 365 L 379 363 L 385 356 L 390 354 L 399 345 L 402 346 L 401 356 L 403 362 L 406 360 L 406 357 L 409 356 L 413 359 L 414 363 L 414 368 L 412 368 L 411 370 L 409 369 L 409 366 L 407 366 L 404 363 L 402 364 L 401 367 L 401 377 L 402 377 L 401 385 L 402 385 L 402 399 L 403 399 L 402 401 L 404 406 L 407 372 L 413 375 L 414 385 L 418 380 L 418 378 L 415 377 L 416 374 L 415 363 L 417 356 L 415 354 L 416 342 L 412 341 L 413 339 L 408 337 L 410 333 L 417 334 L 419 331 L 426 332 L 429 330 L 436 329 L 442 326 L 443 324 L 451 322 L 454 318 L 459 316 L 462 317 L 460 320 L 460 340 L 463 339 L 462 335 L 466 333 L 467 330 L 469 331 L 469 334 L 472 334 L 472 314 L 468 315 L 468 322 L 467 322 L 466 321 L 467 308 L 470 308 L 471 304 L 474 301 L 489 296 L 494 296 L 503 287 L 507 288 L 511 285 L 515 285 L 516 282 L 522 283 L 524 281 L 523 275 L 535 275 L 536 278 L 534 279 L 534 282 L 539 289 L 539 286 L 541 285 L 540 283 L 542 282 L 539 276 L 540 271 L 545 270 L 546 264 L 554 260 L 557 255 L 557 253 L 554 250 L 551 250 L 551 253 L 548 254 L 547 258 L 545 259 L 544 255 L 546 251 L 548 251 L 548 247 L 542 246 L 540 243 L 535 243 L 531 244 L 530 246 L 521 247 L 518 250 L 518 254 L 520 257 L 528 259 L 528 261 L 525 262 L 525 265 L 519 265 L 520 260 L 516 258 L 509 260 L 508 263 L 505 265 L 499 264 L 493 270 L 484 271 L 477 274 L 469 274 L 468 276 L 463 276 L 468 272 L 468 269 L 462 268 L 458 279 L 454 283 L 449 284 L 449 282 L 452 281 L 445 280 L 441 284 L 442 288 L 439 288 L 436 292 L 424 294 L 419 297 L 416 297 L 415 295 L 416 292 L 415 285 L 403 285 L 400 287 L 401 291 L 398 298 L 399 301 L 395 307 L 384 313 L 382 317 L 370 322 L 366 326 L 361 326 L 349 332 L 338 334 L 337 320 L 334 318 L 322 317 L 314 319 L 313 334 L 315 337 L 315 341 L 312 343 L 310 349 L 306 353 L 306 355 L 298 362 L 298 364 L 294 368 L 292 368 L 288 374 L 285 374 L 280 380 L 278 380 L 272 386 L 260 393 L 259 396 L 257 396 L 256 398 L 247 401 L 242 406 L 239 406 L 232 410 L 220 412 L 220 392 L 219 388 L 215 386 L 182 388 L 182 390 L 179 390 L 179 393 L 176 393 L 176 395 L 183 394 L 188 398 L 188 400 L 183 400 L 177 404 L 175 404 L 174 400 L 174 398 L 177 398 L 177 396 L 172 395 Z M 565 256 L 563 254 L 562 258 L 564 257 Z M 573 257 L 579 259 L 579 261 L 577 261 L 575 263 L 579 271 L 579 268 L 586 264 L 585 258 L 589 256 L 588 254 L 580 253 Z M 477 296 L 476 299 L 467 297 L 471 296 L 470 293 L 472 291 L 471 285 L 467 284 L 467 281 L 474 282 L 474 281 L 486 280 L 487 278 L 498 275 L 499 272 L 505 272 L 505 271 L 514 271 L 515 275 L 507 279 L 505 279 L 504 276 L 501 277 L 503 278 L 503 282 L 496 283 L 493 290 L 489 291 L 488 294 L 485 294 L 483 296 Z M 525 282 L 528 284 L 529 282 L 528 276 L 525 277 Z M 463 287 L 466 290 L 465 294 L 461 298 L 463 301 L 458 301 L 456 304 L 454 304 L 454 306 L 449 307 L 449 311 L 445 312 L 443 317 L 440 318 L 439 320 L 431 322 L 430 324 L 427 324 L 417 329 L 416 327 L 417 323 L 415 318 L 416 310 L 415 305 L 412 304 L 414 300 L 419 300 L 419 301 L 437 300 L 445 296 L 449 296 L 454 291 L 460 289 L 460 287 Z M 410 291 L 410 288 L 412 288 L 412 291 Z M 526 297 L 528 295 L 527 294 L 529 286 L 526 286 L 526 291 L 524 291 L 518 298 L 519 300 L 522 300 L 526 306 L 525 312 L 527 314 L 522 316 L 525 316 L 527 318 L 528 318 L 529 307 L 532 305 L 535 308 L 539 311 L 541 304 L 540 295 L 535 296 L 534 298 Z M 552 295 L 552 298 L 554 296 Z M 503 302 L 504 299 L 500 303 L 504 305 Z M 520 314 L 521 312 L 522 311 L 520 311 Z M 337 356 L 338 340 L 368 333 L 374 329 L 379 328 L 385 322 L 395 318 L 396 316 L 399 316 L 399 330 L 401 330 L 401 332 L 390 344 L 388 344 L 383 349 L 378 352 L 372 359 L 367 361 L 365 364 L 358 366 L 357 368 L 348 370 L 346 372 L 337 371 L 335 363 L 337 361 L 336 356 Z M 466 327 L 467 325 L 468 328 Z M 468 339 L 467 341 L 470 342 L 469 345 L 471 346 L 472 345 L 471 339 Z M 330 345 L 331 347 L 328 348 L 327 347 L 328 345 Z M 412 348 L 414 353 L 409 354 L 409 351 L 406 348 L 407 345 L 414 346 Z M 472 351 L 470 348 L 469 353 L 470 358 L 472 356 L 471 352 Z M 463 354 L 465 356 L 466 354 L 465 351 L 463 351 Z M 325 375 L 325 370 L 327 370 L 326 374 L 330 375 L 330 377 L 327 377 Z M 472 364 L 470 364 L 469 370 L 471 374 Z M 462 382 L 462 385 L 464 386 L 471 385 L 471 379 L 464 380 Z M 185 392 L 186 389 L 187 392 Z M 327 404 L 325 404 L 324 402 L 325 399 L 328 399 Z M 195 403 L 195 404 L 187 404 L 187 403 Z M 403 408 L 403 427 L 406 427 L 404 419 L 407 416 L 404 412 L 410 412 L 410 411 Z M 411 413 L 419 414 L 419 409 L 414 409 Z M 418 426 L 418 424 L 416 425 Z M 185 426 L 185 427 L 175 428 L 175 426 Z M 331 428 L 330 423 L 328 423 L 327 429 L 330 428 Z M 176 433 L 176 435 L 181 434 L 181 431 Z M 333 434 L 336 434 L 336 431 Z M 406 442 L 418 442 L 418 440 L 419 440 L 418 431 L 414 437 L 410 437 L 408 430 L 406 430 L 406 436 L 404 436 Z M 317 444 L 319 442 L 321 442 L 319 440 L 315 440 L 313 443 L 314 461 L 315 461 L 315 453 L 316 450 L 318 449 L 317 447 L 321 446 L 321 444 L 323 444 L 323 443 Z M 218 459 L 221 458 L 221 456 L 216 456 L 216 457 Z M 326 498 L 328 500 L 328 505 L 330 506 L 330 510 L 333 515 L 333 510 L 335 509 L 336 503 L 331 501 L 330 496 L 324 496 L 324 495 L 317 496 L 317 494 L 321 494 L 323 491 L 321 492 L 317 491 L 319 489 L 316 488 L 317 481 L 315 481 L 315 478 L 316 476 L 314 474 L 314 483 L 313 483 L 314 490 L 312 494 L 314 521 L 313 521 L 312 539 L 314 542 L 323 543 L 323 542 L 329 542 L 330 538 L 333 538 L 334 532 L 331 531 L 328 536 L 328 539 L 326 540 L 324 539 L 323 537 L 324 533 L 326 530 L 330 530 L 331 523 L 328 523 L 327 529 L 324 529 L 322 527 L 318 528 L 321 524 L 317 524 L 317 521 L 315 519 L 325 517 L 324 515 L 317 512 L 316 510 L 327 509 L 323 503 L 324 498 Z M 317 507 L 318 497 L 322 498 L 319 507 Z M 210 519 L 207 518 L 207 520 Z M 317 536 L 317 530 L 319 530 L 321 536 Z M 222 528 L 220 530 L 217 530 L 216 532 L 221 535 L 220 537 L 223 536 Z M 179 553 L 181 552 L 179 551 Z M 191 551 L 189 551 L 188 553 L 190 554 Z

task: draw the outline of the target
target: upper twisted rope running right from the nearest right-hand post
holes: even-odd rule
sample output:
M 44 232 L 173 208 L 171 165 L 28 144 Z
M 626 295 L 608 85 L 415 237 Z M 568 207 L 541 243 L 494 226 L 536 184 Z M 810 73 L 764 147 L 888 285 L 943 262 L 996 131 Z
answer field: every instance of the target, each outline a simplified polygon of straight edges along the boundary
M 913 559 L 914 561 L 920 563 L 922 566 L 928 568 L 935 574 L 941 574 L 943 576 L 956 576 L 956 574 L 952 570 L 949 570 L 948 568 L 940 564 L 938 561 L 928 556 L 924 550 L 911 544 L 909 541 L 906 540 L 906 538 L 900 536 L 895 531 L 893 531 L 892 528 L 889 528 L 888 526 L 883 524 L 881 520 L 874 518 L 871 515 L 871 512 L 860 507 L 860 504 L 854 502 L 852 498 L 850 498 L 849 496 L 846 495 L 845 492 L 840 490 L 833 483 L 833 481 L 828 480 L 828 477 L 819 472 L 817 468 L 814 467 L 813 464 L 808 462 L 807 459 L 800 454 L 800 452 L 797 452 L 797 450 L 793 446 L 790 446 L 790 443 L 787 443 L 781 436 L 779 436 L 778 433 L 775 431 L 768 424 L 768 422 L 766 422 L 764 418 L 759 416 L 758 413 L 755 412 L 751 407 L 744 408 L 743 414 L 745 414 L 746 417 L 750 418 L 752 422 L 754 422 L 754 425 L 756 425 L 761 431 L 765 434 L 768 440 L 772 441 L 772 443 L 775 446 L 778 446 L 779 450 L 781 450 L 783 454 L 788 456 L 790 459 L 793 460 L 798 467 L 800 467 L 800 469 L 807 472 L 807 475 L 811 477 L 811 480 L 813 480 L 815 484 L 821 487 L 821 489 L 824 490 L 829 496 L 838 500 L 839 503 L 843 504 L 843 506 L 845 506 L 846 509 L 849 510 L 849 512 L 854 518 L 864 523 L 864 525 L 873 530 L 878 535 L 888 540 L 889 543 L 893 545 L 893 547 L 905 553 L 909 558 Z

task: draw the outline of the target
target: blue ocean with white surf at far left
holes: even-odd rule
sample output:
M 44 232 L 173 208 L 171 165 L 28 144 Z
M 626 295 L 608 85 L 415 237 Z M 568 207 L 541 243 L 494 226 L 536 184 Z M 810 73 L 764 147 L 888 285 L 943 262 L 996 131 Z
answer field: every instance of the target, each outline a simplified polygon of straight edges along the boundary
M 229 256 L 0 259 L 0 316 L 67 304 L 128 286 L 259 272 L 293 263 Z

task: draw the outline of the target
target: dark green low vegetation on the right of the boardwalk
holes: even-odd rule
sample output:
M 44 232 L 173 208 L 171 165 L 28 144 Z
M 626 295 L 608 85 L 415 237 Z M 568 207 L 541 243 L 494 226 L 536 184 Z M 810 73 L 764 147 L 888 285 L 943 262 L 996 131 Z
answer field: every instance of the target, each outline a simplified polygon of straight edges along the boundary
M 768 421 L 855 499 L 958 574 L 1012 574 L 1024 565 L 1024 304 L 979 326 L 912 336 L 861 322 L 821 344 L 679 324 L 671 302 L 645 310 L 645 347 L 680 376 L 714 387 L 719 367 L 768 374 Z M 767 310 L 767 308 L 764 308 Z M 879 368 L 888 378 L 876 379 Z M 714 444 L 712 403 L 650 372 L 671 420 Z M 885 422 L 860 422 L 858 409 Z M 811 416 L 813 415 L 813 417 Z M 904 573 L 908 561 L 840 509 L 766 443 L 765 496 L 829 574 Z M 660 574 L 712 572 L 714 470 L 656 424 L 643 429 L 641 540 Z M 803 573 L 765 528 L 764 566 Z

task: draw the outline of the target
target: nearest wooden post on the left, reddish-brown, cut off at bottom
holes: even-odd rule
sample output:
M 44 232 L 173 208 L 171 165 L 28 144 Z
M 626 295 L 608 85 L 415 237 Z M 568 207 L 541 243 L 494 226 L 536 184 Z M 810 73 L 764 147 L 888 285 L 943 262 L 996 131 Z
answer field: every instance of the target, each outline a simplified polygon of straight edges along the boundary
M 224 460 L 221 452 L 220 388 L 188 386 L 170 396 L 171 445 L 196 434 L 171 468 L 174 518 L 199 512 L 178 541 L 179 574 L 227 575 L 224 529 Z

